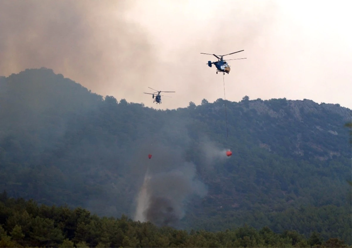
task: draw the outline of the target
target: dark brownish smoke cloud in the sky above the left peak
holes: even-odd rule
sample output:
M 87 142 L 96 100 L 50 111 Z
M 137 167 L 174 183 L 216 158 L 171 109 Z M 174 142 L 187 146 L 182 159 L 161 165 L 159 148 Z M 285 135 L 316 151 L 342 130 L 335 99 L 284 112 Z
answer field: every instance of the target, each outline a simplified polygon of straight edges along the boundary
M 1 1 L 0 75 L 52 68 L 103 96 L 147 80 L 151 46 L 124 12 L 133 1 Z

